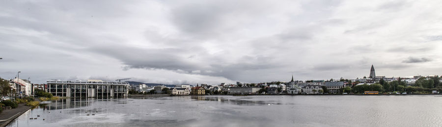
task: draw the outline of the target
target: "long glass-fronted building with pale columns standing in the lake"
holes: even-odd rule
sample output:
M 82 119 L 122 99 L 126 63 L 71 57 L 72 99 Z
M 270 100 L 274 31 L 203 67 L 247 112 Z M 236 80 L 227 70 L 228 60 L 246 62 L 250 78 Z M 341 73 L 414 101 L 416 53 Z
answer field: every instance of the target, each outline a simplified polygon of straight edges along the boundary
M 60 97 L 127 97 L 129 83 L 94 80 L 47 81 L 48 92 Z

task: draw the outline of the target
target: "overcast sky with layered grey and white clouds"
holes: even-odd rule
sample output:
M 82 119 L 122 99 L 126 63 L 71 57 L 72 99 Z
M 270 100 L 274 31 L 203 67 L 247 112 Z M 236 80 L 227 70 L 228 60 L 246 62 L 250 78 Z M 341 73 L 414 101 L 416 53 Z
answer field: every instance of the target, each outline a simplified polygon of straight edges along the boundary
M 160 84 L 442 75 L 441 0 L 2 0 L 0 77 Z

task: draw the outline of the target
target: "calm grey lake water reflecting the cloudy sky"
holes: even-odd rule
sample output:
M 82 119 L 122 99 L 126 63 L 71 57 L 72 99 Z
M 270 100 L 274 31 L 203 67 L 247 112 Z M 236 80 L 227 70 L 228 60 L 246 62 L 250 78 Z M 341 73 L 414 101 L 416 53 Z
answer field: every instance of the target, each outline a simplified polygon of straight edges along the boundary
M 29 120 L 37 115 L 40 117 Z M 442 96 L 182 96 L 111 100 L 68 99 L 29 110 L 7 127 L 60 126 L 441 127 Z

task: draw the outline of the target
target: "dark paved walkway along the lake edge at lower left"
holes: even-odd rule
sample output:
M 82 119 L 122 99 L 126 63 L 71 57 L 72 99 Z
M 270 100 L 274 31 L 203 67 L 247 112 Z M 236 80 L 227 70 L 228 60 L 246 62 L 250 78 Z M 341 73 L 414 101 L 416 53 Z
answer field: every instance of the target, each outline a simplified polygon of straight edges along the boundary
M 5 127 L 12 120 L 19 117 L 20 115 L 28 111 L 30 108 L 32 107 L 26 106 L 26 104 L 19 104 L 17 108 L 3 110 L 0 113 L 0 127 Z

